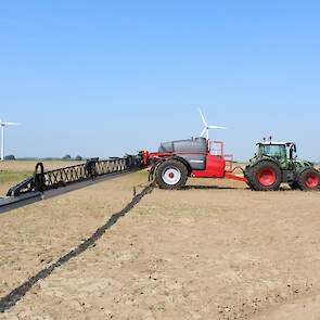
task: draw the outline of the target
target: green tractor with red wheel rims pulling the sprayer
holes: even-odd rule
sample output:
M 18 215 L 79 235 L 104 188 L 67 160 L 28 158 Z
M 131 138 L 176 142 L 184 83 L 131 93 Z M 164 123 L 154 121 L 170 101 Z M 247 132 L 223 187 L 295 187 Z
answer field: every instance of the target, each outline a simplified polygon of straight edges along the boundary
M 293 142 L 264 141 L 245 167 L 247 184 L 256 191 L 279 190 L 281 183 L 292 189 L 320 190 L 320 172 L 313 164 L 297 159 Z

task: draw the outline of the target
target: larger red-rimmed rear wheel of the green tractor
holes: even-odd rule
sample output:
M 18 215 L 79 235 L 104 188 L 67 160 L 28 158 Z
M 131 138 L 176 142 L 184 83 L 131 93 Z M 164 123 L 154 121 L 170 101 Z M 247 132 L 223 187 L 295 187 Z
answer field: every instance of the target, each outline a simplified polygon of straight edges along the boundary
M 261 161 L 247 172 L 248 185 L 255 191 L 276 191 L 282 182 L 280 167 L 270 161 Z

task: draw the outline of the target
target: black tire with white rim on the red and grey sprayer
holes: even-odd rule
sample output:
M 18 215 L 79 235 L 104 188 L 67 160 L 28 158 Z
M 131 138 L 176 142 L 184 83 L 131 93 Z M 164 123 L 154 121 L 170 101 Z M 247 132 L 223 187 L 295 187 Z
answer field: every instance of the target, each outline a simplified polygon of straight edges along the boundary
M 167 159 L 156 168 L 155 181 L 161 189 L 178 190 L 185 185 L 187 180 L 188 169 L 179 161 Z

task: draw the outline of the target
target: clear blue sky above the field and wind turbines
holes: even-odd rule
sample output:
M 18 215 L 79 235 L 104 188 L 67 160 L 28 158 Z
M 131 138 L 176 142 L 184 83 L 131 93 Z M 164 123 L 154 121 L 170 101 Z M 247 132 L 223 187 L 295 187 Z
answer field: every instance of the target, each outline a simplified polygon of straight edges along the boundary
M 264 136 L 320 159 L 318 1 L 1 1 L 7 153 L 121 155 L 197 136 L 245 159 Z

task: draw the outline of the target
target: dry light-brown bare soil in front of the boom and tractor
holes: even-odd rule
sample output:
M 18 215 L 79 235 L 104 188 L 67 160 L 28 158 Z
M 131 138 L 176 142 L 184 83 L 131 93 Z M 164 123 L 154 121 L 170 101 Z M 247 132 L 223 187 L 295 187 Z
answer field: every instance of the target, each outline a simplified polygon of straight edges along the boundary
M 137 172 L 0 215 L 0 297 L 131 199 Z M 320 194 L 155 189 L 0 319 L 320 319 Z

